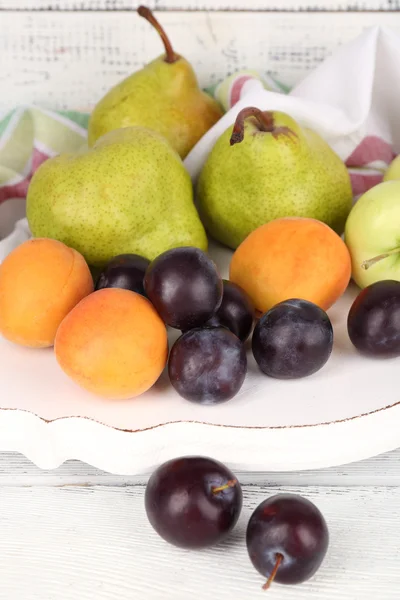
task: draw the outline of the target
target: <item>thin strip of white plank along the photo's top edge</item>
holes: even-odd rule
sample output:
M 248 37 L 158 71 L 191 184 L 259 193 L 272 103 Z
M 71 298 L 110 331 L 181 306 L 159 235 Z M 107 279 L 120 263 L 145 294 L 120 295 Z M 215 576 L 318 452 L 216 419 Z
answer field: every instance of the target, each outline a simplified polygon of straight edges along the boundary
M 144 3 L 158 10 L 392 11 L 399 0 L 0 0 L 0 10 L 135 10 Z

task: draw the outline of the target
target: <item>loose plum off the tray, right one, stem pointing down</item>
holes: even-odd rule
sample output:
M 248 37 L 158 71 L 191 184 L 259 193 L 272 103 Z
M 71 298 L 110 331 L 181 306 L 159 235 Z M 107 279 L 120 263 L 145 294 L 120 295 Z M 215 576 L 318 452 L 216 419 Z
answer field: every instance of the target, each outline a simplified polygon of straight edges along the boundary
M 297 494 L 277 494 L 251 515 L 246 544 L 255 569 L 272 581 L 299 584 L 320 568 L 329 545 L 329 531 L 320 510 Z

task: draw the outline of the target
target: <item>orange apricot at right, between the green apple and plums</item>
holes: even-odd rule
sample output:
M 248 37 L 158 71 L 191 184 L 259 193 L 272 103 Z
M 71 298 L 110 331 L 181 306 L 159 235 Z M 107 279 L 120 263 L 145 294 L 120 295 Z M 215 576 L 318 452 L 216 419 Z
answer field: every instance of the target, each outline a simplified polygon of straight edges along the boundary
M 308 218 L 262 225 L 238 247 L 230 264 L 230 280 L 262 313 L 290 298 L 327 310 L 346 290 L 350 275 L 350 254 L 341 237 Z

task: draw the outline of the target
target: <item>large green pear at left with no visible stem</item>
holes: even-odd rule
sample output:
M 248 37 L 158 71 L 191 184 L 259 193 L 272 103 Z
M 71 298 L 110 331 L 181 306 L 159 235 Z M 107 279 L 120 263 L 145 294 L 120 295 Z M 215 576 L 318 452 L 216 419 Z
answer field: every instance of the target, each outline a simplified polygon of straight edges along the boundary
M 94 267 L 118 254 L 152 260 L 177 246 L 207 249 L 182 160 L 143 127 L 112 131 L 91 149 L 45 161 L 26 210 L 33 236 L 64 242 Z

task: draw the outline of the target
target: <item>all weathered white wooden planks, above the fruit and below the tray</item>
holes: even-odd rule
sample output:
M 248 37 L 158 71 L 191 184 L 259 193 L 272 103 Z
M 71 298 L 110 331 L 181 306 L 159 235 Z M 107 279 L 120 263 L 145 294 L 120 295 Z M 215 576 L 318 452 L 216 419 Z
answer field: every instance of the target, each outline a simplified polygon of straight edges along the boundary
M 0 110 L 88 109 L 161 52 L 135 0 L 0 0 Z M 364 28 L 400 33 L 399 0 L 151 0 L 202 85 L 242 67 L 291 85 Z M 346 12 L 347 11 L 347 12 Z M 350 11 L 350 12 L 348 12 Z M 296 449 L 294 449 L 294 452 Z M 316 448 L 318 452 L 318 448 Z M 246 556 L 251 510 L 267 495 L 308 496 L 331 531 L 318 575 L 274 586 L 277 600 L 387 600 L 400 588 L 400 450 L 318 472 L 246 474 L 231 540 L 207 552 L 166 546 L 147 524 L 145 481 L 70 462 L 39 471 L 0 456 L 1 600 L 265 598 Z

